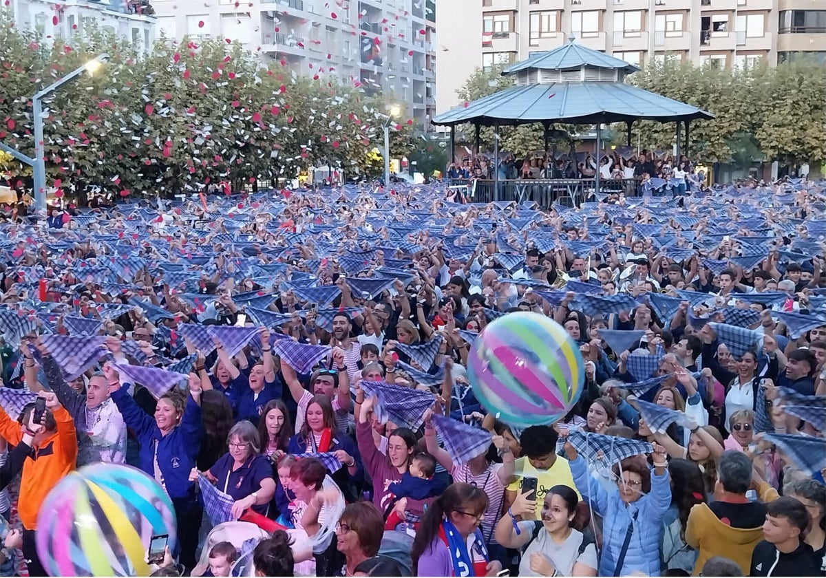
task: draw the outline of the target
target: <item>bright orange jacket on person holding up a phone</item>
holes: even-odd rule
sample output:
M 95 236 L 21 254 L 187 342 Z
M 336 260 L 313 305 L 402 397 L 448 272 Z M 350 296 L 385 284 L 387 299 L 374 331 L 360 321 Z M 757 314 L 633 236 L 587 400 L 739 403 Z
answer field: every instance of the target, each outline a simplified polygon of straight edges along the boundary
M 78 438 L 69 412 L 61 407 L 52 413 L 57 431 L 34 449 L 34 459 L 27 457 L 23 463 L 17 514 L 27 530 L 36 529 L 37 512 L 46 495 L 69 471 L 74 470 L 78 461 Z M 12 421 L 2 409 L 0 436 L 13 446 L 22 438 L 20 424 Z

